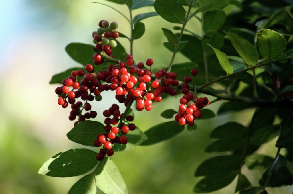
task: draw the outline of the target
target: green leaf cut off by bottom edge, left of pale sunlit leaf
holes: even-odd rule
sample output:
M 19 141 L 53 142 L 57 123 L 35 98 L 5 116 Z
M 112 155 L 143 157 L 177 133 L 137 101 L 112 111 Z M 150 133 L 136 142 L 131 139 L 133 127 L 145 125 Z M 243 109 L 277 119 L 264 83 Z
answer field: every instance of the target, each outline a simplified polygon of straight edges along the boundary
M 96 194 L 96 179 L 93 174 L 88 174 L 71 186 L 67 194 Z

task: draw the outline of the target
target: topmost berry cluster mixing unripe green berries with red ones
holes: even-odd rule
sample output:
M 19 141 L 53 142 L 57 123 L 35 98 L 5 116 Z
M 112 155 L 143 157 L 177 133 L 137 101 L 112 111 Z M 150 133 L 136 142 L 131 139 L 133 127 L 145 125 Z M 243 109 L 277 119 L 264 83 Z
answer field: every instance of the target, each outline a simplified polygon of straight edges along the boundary
M 109 22 L 107 20 L 100 20 L 99 28 L 92 33 L 93 43 L 96 44 L 96 49 L 105 52 L 110 57 L 112 55 L 112 49 L 117 46 L 117 42 L 114 39 L 119 37 L 119 32 L 115 31 L 118 28 L 117 22 Z M 103 64 L 105 59 L 100 53 L 93 55 L 93 63 L 96 65 Z

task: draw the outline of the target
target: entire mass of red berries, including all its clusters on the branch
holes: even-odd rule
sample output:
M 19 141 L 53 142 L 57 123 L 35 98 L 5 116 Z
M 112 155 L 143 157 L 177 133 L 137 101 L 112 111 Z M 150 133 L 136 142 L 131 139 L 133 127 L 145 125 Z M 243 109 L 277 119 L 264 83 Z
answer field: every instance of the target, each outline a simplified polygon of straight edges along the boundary
M 115 31 L 117 29 L 116 22 L 112 22 L 109 25 L 108 21 L 101 20 L 99 27 L 92 34 L 93 41 L 96 43 L 96 49 L 94 50 L 97 53 L 93 55 L 94 64 L 96 65 L 109 62 L 102 55 L 105 56 L 106 54 L 113 57 L 111 48 L 117 45 L 113 39 L 119 36 L 119 33 Z M 151 66 L 153 62 L 152 59 L 147 59 L 145 64 Z M 78 117 L 74 125 L 85 119 L 97 116 L 97 112 L 91 110 L 92 107 L 89 102 L 94 99 L 100 101 L 102 99 L 100 94 L 105 90 L 115 91 L 115 98 L 118 102 L 124 103 L 125 106 L 136 101 L 138 111 L 143 109 L 150 111 L 153 101 L 161 102 L 163 92 L 174 96 L 177 94 L 176 88 L 179 85 L 175 72 L 166 72 L 166 69 L 161 69 L 152 73 L 150 69 L 144 68 L 143 62 L 135 64 L 132 55 L 127 55 L 126 62 L 119 62 L 115 65 L 110 64 L 106 69 L 102 66 L 95 71 L 93 65 L 87 64 L 85 70 L 86 72 L 82 69 L 72 71 L 71 75 L 62 81 L 63 86 L 57 87 L 55 90 L 56 94 L 59 95 L 59 105 L 66 108 L 68 104 L 71 104 L 72 110 L 70 111 L 69 120 L 75 120 Z M 197 70 L 192 69 L 191 73 L 195 76 Z M 207 98 L 203 98 L 203 100 L 202 98 L 196 98 L 193 102 L 193 93 L 189 92 L 188 83 L 190 81 L 191 77 L 185 76 L 185 83 L 181 85 L 182 93 L 185 95 L 180 99 L 181 105 L 175 117 L 175 120 L 179 121 L 180 125 L 185 125 L 186 123 L 193 125 L 194 118 L 201 116 L 200 108 L 208 104 Z M 75 102 L 79 97 L 85 102 Z M 83 110 L 88 112 L 82 113 Z M 127 112 L 125 114 L 120 112 L 117 104 L 113 104 L 109 109 L 103 111 L 103 116 L 106 117 L 104 120 L 106 133 L 98 134 L 97 140 L 94 142 L 96 147 L 103 145 L 96 157 L 97 160 L 103 160 L 106 154 L 112 156 L 114 154 L 112 149 L 114 143 L 127 144 L 128 140 L 125 134 L 135 130 L 136 126 L 133 123 L 129 123 L 134 119 L 133 116 L 127 115 Z M 111 116 L 113 117 L 111 118 Z

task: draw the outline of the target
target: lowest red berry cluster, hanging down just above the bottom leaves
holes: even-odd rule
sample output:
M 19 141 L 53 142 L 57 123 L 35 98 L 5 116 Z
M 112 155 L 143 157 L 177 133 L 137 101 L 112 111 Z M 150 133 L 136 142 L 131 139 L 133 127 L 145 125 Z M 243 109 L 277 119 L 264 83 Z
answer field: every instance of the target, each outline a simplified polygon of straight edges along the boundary
M 112 104 L 112 106 L 103 111 L 103 116 L 105 116 L 105 131 L 104 134 L 98 134 L 98 137 L 94 145 L 96 147 L 100 147 L 103 145 L 103 148 L 100 149 L 100 152 L 97 154 L 97 160 L 103 160 L 104 156 L 107 154 L 108 156 L 113 156 L 114 151 L 112 146 L 114 143 L 118 144 L 127 144 L 127 137 L 124 136 L 129 131 L 135 130 L 136 126 L 133 123 L 129 123 L 133 121 L 133 116 L 128 115 L 126 118 L 123 116 L 123 113 L 120 114 L 119 106 L 117 104 Z M 111 115 L 113 118 L 110 118 Z M 120 119 L 118 119 L 118 117 Z M 120 120 L 120 124 L 118 127 L 115 125 L 118 124 Z M 113 126 L 112 126 L 113 125 Z

